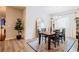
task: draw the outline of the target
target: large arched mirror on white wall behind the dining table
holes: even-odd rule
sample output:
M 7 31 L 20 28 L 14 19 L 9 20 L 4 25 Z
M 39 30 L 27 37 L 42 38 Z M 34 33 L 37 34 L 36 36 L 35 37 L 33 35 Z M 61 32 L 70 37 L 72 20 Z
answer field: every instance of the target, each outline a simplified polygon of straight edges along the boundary
M 35 21 L 35 29 L 36 29 L 36 34 L 35 34 L 36 37 L 38 37 L 39 32 L 46 31 L 45 22 L 40 17 L 37 17 Z

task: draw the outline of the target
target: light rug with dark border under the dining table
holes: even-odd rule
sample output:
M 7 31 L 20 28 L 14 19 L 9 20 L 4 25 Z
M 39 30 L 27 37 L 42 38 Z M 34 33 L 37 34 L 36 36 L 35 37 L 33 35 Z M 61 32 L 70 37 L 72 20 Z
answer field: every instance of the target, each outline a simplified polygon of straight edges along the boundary
M 69 41 L 68 41 L 69 40 Z M 65 42 L 60 42 L 57 47 L 54 47 L 54 44 L 51 43 L 51 49 L 48 50 L 48 42 L 42 40 L 41 44 L 39 45 L 38 40 L 32 40 L 27 44 L 36 52 L 67 52 L 71 49 L 72 45 L 74 44 L 75 40 L 67 39 Z

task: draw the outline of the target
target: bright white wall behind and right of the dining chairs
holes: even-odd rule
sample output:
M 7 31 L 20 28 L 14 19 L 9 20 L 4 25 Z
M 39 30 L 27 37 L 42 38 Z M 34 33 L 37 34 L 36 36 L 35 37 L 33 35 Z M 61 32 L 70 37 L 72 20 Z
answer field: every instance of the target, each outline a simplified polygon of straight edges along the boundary
M 76 38 L 76 21 L 74 14 L 67 14 L 61 16 L 56 22 L 56 28 L 65 28 L 66 29 L 66 37 Z

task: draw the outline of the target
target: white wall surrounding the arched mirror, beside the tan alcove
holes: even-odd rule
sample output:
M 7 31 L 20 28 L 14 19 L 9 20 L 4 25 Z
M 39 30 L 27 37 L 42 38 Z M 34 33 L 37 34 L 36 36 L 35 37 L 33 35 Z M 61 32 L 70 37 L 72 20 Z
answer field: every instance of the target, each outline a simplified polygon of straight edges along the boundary
M 26 38 L 32 39 L 35 37 L 35 20 L 37 17 L 44 20 L 45 25 L 48 20 L 47 14 L 42 7 L 27 7 L 27 26 L 26 26 Z

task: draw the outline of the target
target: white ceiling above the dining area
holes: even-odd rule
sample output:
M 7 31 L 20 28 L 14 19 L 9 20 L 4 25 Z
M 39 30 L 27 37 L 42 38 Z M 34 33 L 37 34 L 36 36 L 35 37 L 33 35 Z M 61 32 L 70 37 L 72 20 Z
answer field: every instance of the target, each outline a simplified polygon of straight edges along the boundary
M 28 6 L 28 8 L 33 12 L 42 12 L 47 15 L 58 15 L 72 12 L 71 10 L 75 9 L 79 10 L 79 6 Z

